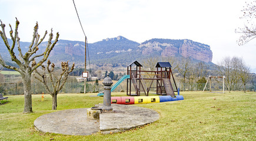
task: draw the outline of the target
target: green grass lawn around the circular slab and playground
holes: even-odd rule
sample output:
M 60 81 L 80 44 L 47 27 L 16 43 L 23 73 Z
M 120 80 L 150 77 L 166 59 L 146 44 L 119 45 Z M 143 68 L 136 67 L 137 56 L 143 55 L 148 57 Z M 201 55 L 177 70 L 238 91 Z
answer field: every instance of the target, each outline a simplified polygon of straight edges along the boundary
M 103 103 L 95 93 L 59 94 L 58 110 L 89 108 Z M 126 93 L 112 93 L 125 96 Z M 122 133 L 70 136 L 42 133 L 34 120 L 51 110 L 51 96 L 32 95 L 34 113 L 23 114 L 24 96 L 8 95 L 0 105 L 0 140 L 256 140 L 255 92 L 181 92 L 185 100 L 142 104 L 156 110 L 157 122 Z

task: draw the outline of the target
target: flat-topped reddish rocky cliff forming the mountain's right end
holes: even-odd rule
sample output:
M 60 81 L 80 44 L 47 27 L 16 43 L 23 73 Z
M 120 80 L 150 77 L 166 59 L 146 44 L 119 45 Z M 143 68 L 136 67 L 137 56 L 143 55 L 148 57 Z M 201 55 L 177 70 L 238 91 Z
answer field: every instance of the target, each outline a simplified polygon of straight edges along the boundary
M 203 62 L 212 61 L 210 46 L 188 39 L 151 39 L 141 43 L 137 51 L 141 52 L 142 55 L 151 54 L 163 57 L 181 55 L 185 58 L 191 57 Z

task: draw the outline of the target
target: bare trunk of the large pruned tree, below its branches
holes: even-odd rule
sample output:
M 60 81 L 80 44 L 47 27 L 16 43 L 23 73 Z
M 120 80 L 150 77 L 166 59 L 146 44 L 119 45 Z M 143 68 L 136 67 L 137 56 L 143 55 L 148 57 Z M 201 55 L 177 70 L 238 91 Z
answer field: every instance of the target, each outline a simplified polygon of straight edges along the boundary
M 31 73 L 21 74 L 23 79 L 24 89 L 24 111 L 23 113 L 31 113 L 32 110 L 32 96 L 31 96 Z

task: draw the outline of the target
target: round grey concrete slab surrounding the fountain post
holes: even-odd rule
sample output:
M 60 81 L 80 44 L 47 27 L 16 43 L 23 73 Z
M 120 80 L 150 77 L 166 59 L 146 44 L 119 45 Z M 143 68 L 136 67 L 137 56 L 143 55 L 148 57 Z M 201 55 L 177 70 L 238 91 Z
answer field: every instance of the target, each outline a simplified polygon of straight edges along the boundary
M 34 125 L 42 132 L 64 135 L 91 135 L 128 130 L 155 122 L 155 110 L 131 105 L 112 105 L 113 112 L 103 112 L 99 120 L 87 119 L 87 108 L 60 110 L 38 117 Z

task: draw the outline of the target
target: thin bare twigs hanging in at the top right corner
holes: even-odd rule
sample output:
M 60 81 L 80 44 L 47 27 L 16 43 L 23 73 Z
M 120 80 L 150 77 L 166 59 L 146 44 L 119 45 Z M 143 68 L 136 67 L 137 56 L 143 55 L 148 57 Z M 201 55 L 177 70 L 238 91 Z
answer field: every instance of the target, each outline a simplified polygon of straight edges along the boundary
M 245 2 L 246 6 L 242 9 L 244 15 L 240 19 L 246 19 L 247 23 L 243 28 L 235 30 L 237 33 L 242 33 L 238 39 L 238 45 L 244 45 L 256 37 L 256 26 L 251 23 L 256 18 L 256 1 Z

